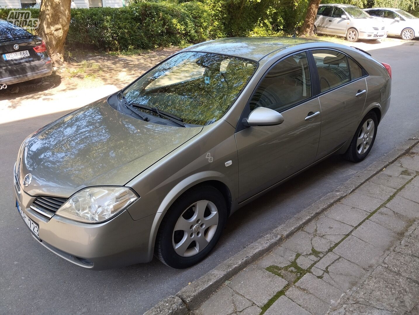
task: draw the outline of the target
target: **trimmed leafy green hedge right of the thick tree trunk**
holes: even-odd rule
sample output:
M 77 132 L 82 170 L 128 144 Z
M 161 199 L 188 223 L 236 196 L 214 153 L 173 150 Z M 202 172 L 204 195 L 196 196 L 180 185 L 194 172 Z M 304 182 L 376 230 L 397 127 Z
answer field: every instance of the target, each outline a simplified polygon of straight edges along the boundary
M 0 9 L 6 19 L 11 9 Z M 39 10 L 32 9 L 32 17 Z M 66 49 L 122 51 L 199 43 L 222 34 L 203 3 L 138 2 L 124 8 L 72 9 Z

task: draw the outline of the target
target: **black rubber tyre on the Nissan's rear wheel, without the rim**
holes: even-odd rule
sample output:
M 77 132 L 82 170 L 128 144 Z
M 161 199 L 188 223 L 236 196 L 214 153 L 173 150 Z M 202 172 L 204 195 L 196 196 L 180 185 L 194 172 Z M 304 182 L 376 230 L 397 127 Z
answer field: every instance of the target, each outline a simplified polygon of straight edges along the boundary
M 374 127 L 374 132 L 373 133 L 374 134 L 372 136 L 372 140 L 371 140 L 370 144 L 368 145 L 367 149 L 365 150 L 365 149 L 362 149 L 362 143 L 358 145 L 358 140 L 361 140 L 362 138 L 364 138 L 364 135 L 362 135 L 362 133 L 364 133 L 362 131 L 362 128 L 363 128 L 365 122 L 367 122 L 368 120 L 372 120 L 372 122 L 374 123 L 374 125 L 373 125 L 373 127 Z M 368 153 L 370 153 L 372 145 L 374 144 L 375 136 L 377 135 L 377 127 L 378 127 L 377 115 L 374 112 L 369 112 L 367 115 L 365 115 L 364 119 L 362 119 L 360 125 L 358 126 L 357 131 L 355 132 L 355 135 L 352 138 L 351 144 L 349 145 L 348 150 L 344 154 L 344 158 L 349 160 L 349 161 L 352 161 L 352 162 L 360 162 L 363 159 L 365 159 L 367 157 Z M 364 146 L 365 146 L 365 142 L 364 142 Z M 361 150 L 361 152 L 363 151 L 361 154 L 359 152 L 360 150 Z

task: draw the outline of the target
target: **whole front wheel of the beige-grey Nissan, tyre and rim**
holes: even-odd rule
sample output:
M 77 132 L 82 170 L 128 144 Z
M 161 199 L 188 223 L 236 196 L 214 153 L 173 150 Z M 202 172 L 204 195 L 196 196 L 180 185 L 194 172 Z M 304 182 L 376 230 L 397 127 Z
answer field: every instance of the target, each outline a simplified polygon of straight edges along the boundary
M 155 254 L 173 268 L 197 264 L 214 248 L 227 220 L 220 191 L 202 186 L 182 195 L 163 218 L 156 237 Z

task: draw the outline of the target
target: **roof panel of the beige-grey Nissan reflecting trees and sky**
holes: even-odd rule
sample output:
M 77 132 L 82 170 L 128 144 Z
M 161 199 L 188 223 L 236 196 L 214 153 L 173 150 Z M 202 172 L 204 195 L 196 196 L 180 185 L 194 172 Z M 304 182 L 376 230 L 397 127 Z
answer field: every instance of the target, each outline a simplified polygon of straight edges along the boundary
M 230 37 L 205 41 L 183 51 L 225 54 L 259 61 L 274 51 L 298 44 L 318 42 L 316 39 L 294 37 Z

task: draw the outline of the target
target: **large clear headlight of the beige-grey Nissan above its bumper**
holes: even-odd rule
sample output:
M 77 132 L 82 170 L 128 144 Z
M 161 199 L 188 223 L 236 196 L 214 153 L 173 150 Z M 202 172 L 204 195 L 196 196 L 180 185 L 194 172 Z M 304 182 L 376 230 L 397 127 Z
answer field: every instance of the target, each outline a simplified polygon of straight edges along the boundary
M 128 187 L 89 187 L 68 198 L 57 215 L 80 222 L 99 223 L 113 217 L 137 198 Z

